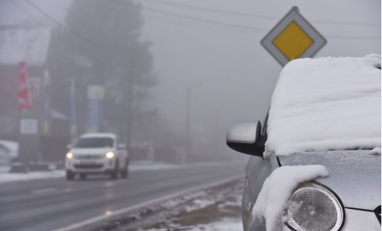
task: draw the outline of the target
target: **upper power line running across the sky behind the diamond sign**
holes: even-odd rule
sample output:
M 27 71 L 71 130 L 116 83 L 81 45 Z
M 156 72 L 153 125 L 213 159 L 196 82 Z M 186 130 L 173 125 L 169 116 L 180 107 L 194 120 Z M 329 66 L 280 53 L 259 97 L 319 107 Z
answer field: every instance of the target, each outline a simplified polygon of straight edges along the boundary
M 147 1 L 150 3 L 160 4 L 160 5 L 170 5 L 177 8 L 183 8 L 183 9 L 189 9 L 189 10 L 199 10 L 203 12 L 212 12 L 212 13 L 218 13 L 218 14 L 229 14 L 239 17 L 250 17 L 255 19 L 274 19 L 279 20 L 280 17 L 270 16 L 270 15 L 263 15 L 263 14 L 249 14 L 249 13 L 243 13 L 243 12 L 233 12 L 229 10 L 217 10 L 212 8 L 202 8 L 199 6 L 194 5 L 185 5 L 181 3 L 174 3 L 170 1 L 161 1 L 161 0 L 142 0 Z M 380 23 L 363 23 L 363 22 L 344 22 L 344 21 L 325 21 L 325 20 L 310 20 L 315 23 L 322 23 L 322 24 L 338 24 L 338 25 L 370 25 L 370 26 L 381 26 Z

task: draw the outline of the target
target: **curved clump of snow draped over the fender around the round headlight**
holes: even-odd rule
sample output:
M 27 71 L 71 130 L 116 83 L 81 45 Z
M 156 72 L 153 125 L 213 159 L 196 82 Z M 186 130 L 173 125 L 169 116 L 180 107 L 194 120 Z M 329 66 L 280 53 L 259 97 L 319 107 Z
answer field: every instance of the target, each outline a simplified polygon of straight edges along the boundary
M 294 189 L 299 184 L 328 177 L 328 170 L 322 165 L 282 166 L 265 180 L 252 210 L 253 219 L 265 218 L 267 231 L 281 229 L 284 209 Z

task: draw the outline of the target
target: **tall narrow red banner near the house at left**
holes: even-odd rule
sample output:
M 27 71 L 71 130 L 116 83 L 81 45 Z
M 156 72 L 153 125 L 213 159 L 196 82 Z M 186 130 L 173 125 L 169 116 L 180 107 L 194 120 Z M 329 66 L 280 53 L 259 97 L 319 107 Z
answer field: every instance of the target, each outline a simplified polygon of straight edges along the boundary
M 21 62 L 19 71 L 19 108 L 30 109 L 31 107 L 26 63 Z

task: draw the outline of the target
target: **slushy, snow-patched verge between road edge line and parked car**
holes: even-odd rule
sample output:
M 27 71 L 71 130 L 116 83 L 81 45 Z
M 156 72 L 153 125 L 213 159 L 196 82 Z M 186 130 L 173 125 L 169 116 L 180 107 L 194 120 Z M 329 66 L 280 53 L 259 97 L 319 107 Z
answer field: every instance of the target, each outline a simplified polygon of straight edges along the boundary
M 131 214 L 134 219 L 114 221 L 108 230 L 241 231 L 243 187 L 244 181 L 237 180 L 170 199 L 145 212 Z

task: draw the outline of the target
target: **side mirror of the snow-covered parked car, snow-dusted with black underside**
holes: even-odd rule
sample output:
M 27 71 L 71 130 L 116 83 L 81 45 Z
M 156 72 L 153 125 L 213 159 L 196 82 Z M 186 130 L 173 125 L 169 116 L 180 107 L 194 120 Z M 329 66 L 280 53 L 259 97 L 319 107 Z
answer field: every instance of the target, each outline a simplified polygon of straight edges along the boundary
M 263 157 L 266 135 L 261 135 L 261 122 L 252 120 L 232 126 L 227 133 L 227 145 L 234 151 Z

